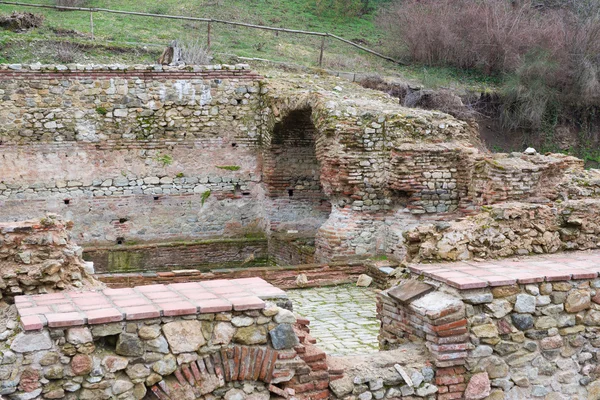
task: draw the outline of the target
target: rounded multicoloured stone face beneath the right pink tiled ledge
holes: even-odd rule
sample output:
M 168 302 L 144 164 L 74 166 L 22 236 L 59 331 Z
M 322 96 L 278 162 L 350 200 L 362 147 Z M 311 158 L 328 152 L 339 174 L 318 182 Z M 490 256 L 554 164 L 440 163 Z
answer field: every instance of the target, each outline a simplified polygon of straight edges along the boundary
M 472 333 L 467 368 L 487 374 L 494 398 L 597 397 L 598 288 L 582 279 L 461 292 Z

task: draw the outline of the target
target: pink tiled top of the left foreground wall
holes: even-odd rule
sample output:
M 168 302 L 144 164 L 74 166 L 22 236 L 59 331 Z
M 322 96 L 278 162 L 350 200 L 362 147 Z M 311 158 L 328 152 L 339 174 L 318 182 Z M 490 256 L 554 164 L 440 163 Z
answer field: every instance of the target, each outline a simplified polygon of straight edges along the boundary
M 148 285 L 15 298 L 26 331 L 123 320 L 247 311 L 265 308 L 262 299 L 285 292 L 260 278 Z

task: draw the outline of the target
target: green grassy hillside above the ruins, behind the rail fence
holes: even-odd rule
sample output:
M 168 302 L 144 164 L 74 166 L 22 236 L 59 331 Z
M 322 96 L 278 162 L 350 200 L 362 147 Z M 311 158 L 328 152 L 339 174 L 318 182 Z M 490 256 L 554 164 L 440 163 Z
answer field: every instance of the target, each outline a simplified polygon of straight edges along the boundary
M 23 0 L 54 4 L 52 0 Z M 389 0 L 373 4 L 385 6 Z M 333 11 L 319 13 L 314 0 L 89 0 L 89 7 L 211 17 L 230 21 L 290 29 L 330 32 L 374 50 L 382 48 L 382 34 L 375 24 L 375 12 L 361 17 L 344 17 Z M 31 11 L 46 17 L 42 28 L 27 33 L 1 31 L 0 62 L 28 63 L 57 61 L 57 42 L 77 44 L 78 62 L 152 63 L 173 39 L 198 38 L 205 41 L 207 24 L 150 17 L 94 14 L 95 41 L 91 40 L 90 16 L 85 12 L 54 11 L 24 6 L 0 5 L 0 13 Z M 320 37 L 231 27 L 213 24 L 211 51 L 215 63 L 228 62 L 230 55 L 292 62 L 317 67 Z M 426 87 L 467 87 L 486 90 L 493 79 L 452 68 L 399 66 L 327 39 L 323 67 L 338 71 L 370 72 L 398 77 Z

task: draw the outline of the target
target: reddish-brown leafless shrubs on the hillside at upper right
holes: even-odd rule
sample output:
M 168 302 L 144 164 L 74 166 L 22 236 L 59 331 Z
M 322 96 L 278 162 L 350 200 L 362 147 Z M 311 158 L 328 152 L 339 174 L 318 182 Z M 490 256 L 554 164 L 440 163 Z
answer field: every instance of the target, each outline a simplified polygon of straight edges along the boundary
M 573 107 L 600 106 L 597 4 L 406 0 L 379 23 L 396 56 L 503 76 L 504 125 L 539 129 Z

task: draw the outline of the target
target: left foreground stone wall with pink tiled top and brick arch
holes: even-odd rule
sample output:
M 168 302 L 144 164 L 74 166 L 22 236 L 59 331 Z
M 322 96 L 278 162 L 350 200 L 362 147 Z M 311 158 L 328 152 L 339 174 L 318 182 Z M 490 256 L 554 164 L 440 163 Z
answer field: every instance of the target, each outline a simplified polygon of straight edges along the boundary
M 283 293 L 250 279 L 17 297 L 22 326 L 3 338 L 0 394 L 256 400 L 289 397 L 296 386 L 303 392 L 292 379 L 321 370 L 295 350 L 296 317 L 257 297 L 235 297 L 250 286 L 262 287 L 264 298 Z M 327 389 L 327 368 L 323 374 Z

